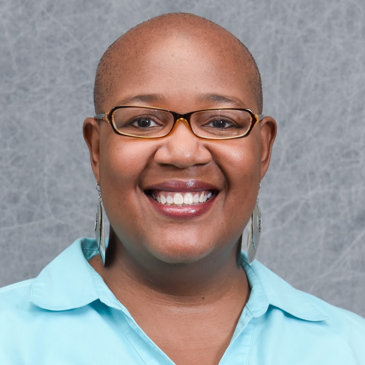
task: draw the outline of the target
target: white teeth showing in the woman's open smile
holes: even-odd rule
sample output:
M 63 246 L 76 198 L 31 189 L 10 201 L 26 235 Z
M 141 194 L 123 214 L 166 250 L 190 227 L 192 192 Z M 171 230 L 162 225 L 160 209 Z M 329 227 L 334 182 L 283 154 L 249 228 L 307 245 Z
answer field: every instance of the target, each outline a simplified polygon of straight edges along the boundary
M 153 190 L 151 196 L 155 201 L 173 207 L 187 207 L 189 205 L 200 205 L 205 203 L 214 194 L 212 190 L 192 191 L 192 192 L 173 192 Z

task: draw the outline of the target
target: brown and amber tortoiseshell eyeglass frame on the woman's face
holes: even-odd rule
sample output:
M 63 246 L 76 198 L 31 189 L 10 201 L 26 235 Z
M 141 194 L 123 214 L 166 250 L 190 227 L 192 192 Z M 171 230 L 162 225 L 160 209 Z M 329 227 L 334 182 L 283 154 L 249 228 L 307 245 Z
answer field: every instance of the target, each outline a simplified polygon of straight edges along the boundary
M 115 126 L 114 119 L 113 119 L 114 113 L 117 110 L 122 109 L 122 108 L 145 108 L 145 109 L 153 109 L 153 110 L 161 110 L 161 111 L 164 111 L 164 112 L 169 112 L 174 117 L 174 123 L 173 123 L 171 129 L 167 133 L 165 133 L 164 135 L 158 136 L 158 137 L 151 137 L 151 136 L 146 137 L 146 136 L 138 136 L 138 135 L 123 133 L 123 132 L 119 131 L 118 128 Z M 231 137 L 204 137 L 204 136 L 201 136 L 201 135 L 197 134 L 193 130 L 193 128 L 191 127 L 190 117 L 194 113 L 204 112 L 204 111 L 209 111 L 209 110 L 242 110 L 242 111 L 246 111 L 246 112 L 248 112 L 251 115 L 251 124 L 250 124 L 250 127 L 248 128 L 248 130 L 244 134 L 238 135 L 238 136 L 231 136 Z M 265 116 L 264 114 L 257 115 L 251 109 L 246 109 L 246 108 L 209 108 L 209 109 L 195 110 L 195 111 L 188 112 L 188 113 L 177 113 L 177 112 L 173 112 L 171 110 L 161 109 L 161 108 L 154 108 L 154 107 L 139 107 L 137 105 L 118 105 L 116 107 L 111 108 L 110 111 L 108 111 L 108 112 L 106 112 L 104 114 L 96 114 L 94 116 L 94 118 L 95 119 L 99 119 L 99 120 L 105 120 L 106 122 L 109 122 L 110 125 L 111 125 L 111 127 L 113 128 L 113 131 L 116 134 L 126 135 L 126 136 L 129 136 L 129 137 L 136 137 L 136 138 L 163 138 L 163 137 L 166 137 L 174 129 L 174 126 L 175 126 L 175 124 L 176 124 L 176 122 L 178 120 L 185 120 L 188 123 L 190 130 L 192 131 L 192 133 L 194 135 L 196 135 L 196 137 L 203 138 L 203 139 L 234 139 L 234 138 L 247 137 L 250 134 L 250 132 L 252 131 L 252 129 L 255 126 L 255 124 L 257 124 L 258 122 L 261 122 L 261 120 L 264 118 L 264 116 Z

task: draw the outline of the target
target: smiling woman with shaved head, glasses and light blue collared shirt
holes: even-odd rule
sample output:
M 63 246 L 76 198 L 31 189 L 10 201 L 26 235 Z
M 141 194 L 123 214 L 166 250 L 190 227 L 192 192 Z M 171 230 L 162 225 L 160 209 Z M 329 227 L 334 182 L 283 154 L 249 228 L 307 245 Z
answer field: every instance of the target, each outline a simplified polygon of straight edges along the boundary
M 105 52 L 94 96 L 96 241 L 2 290 L 1 363 L 364 362 L 363 319 L 253 261 L 276 123 L 233 35 L 193 15 L 151 19 Z

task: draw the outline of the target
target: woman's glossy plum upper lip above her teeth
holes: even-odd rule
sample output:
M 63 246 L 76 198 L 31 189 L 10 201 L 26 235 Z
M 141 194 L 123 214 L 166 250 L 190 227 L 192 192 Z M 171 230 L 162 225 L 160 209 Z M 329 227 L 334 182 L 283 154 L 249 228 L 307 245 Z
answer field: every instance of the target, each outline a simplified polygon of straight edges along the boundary
M 202 191 L 202 190 L 218 190 L 216 185 L 201 180 L 166 180 L 161 183 L 148 185 L 143 190 L 164 190 L 164 191 Z

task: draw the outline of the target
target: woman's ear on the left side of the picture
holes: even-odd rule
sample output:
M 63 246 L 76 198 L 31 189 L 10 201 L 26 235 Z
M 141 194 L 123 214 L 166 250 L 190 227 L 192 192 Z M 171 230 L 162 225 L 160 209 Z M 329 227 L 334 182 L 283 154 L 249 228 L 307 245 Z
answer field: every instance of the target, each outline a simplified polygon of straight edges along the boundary
M 100 163 L 100 124 L 95 118 L 86 118 L 82 126 L 84 139 L 89 147 L 91 168 L 99 184 Z

